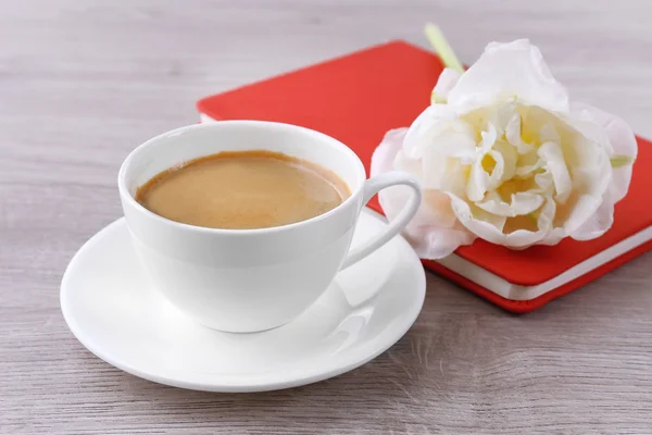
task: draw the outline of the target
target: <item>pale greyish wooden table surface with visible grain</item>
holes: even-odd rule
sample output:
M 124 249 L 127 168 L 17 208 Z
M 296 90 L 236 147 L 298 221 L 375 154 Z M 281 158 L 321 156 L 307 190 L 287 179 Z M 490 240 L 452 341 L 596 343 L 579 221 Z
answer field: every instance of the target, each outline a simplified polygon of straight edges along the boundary
M 425 45 L 434 21 L 465 62 L 529 37 L 574 98 L 652 137 L 651 15 L 649 0 L 4 0 L 0 433 L 652 433 L 651 254 L 523 316 L 429 274 L 390 350 L 265 394 L 125 374 L 59 308 L 67 262 L 121 216 L 122 160 L 196 122 L 202 96 L 388 39 Z

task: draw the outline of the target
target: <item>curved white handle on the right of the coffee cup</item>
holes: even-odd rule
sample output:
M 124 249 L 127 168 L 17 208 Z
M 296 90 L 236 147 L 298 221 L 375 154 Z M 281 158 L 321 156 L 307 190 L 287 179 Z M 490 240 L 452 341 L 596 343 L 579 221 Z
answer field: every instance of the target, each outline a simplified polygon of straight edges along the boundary
M 422 190 L 418 182 L 414 179 L 410 174 L 402 171 L 392 171 L 386 172 L 385 174 L 377 175 L 373 178 L 364 182 L 363 187 L 363 199 L 362 207 L 366 206 L 366 203 L 380 190 L 391 187 L 391 186 L 408 186 L 412 188 L 412 195 L 408 200 L 408 203 L 403 207 L 403 210 L 399 213 L 397 219 L 394 219 L 385 229 L 384 233 L 376 236 L 375 238 L 368 240 L 363 246 L 352 250 L 347 256 L 342 268 L 340 270 L 347 269 L 352 264 L 355 264 L 369 253 L 374 252 L 376 249 L 380 248 L 383 245 L 391 240 L 393 236 L 399 234 L 405 225 L 414 217 L 418 207 L 421 206 L 422 200 Z

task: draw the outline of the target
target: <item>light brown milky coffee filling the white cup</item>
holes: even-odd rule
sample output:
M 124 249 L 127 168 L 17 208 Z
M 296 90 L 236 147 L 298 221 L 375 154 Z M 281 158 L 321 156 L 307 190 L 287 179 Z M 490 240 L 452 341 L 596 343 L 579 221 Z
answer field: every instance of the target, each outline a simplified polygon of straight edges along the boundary
M 210 228 L 288 225 L 326 213 L 351 195 L 315 163 L 265 150 L 225 151 L 170 167 L 136 201 L 160 216 Z

